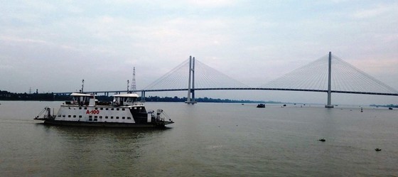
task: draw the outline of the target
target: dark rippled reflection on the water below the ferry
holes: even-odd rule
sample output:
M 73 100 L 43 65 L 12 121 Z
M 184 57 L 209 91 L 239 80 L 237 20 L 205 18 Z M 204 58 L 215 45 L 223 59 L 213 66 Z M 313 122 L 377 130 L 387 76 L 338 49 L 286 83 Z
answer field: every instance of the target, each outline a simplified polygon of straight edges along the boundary
M 43 126 L 55 139 L 52 163 L 58 163 L 74 175 L 109 174 L 124 176 L 139 167 L 141 149 L 166 130 L 114 129 L 98 127 Z M 59 153 L 59 154 L 58 154 Z M 58 155 L 57 155 L 58 154 Z M 65 159 L 67 161 L 65 161 Z M 134 160 L 133 160 L 134 159 Z M 80 163 L 74 163 L 79 161 Z M 126 163 L 129 162 L 129 163 Z

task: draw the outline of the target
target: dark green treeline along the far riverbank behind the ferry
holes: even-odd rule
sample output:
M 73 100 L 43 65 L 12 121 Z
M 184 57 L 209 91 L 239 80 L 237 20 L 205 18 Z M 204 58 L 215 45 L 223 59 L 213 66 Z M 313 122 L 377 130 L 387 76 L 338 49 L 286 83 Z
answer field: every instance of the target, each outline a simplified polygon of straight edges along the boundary
M 113 97 L 97 95 L 97 100 L 100 101 L 112 101 Z M 32 100 L 32 101 L 68 101 L 72 100 L 70 95 L 55 95 L 53 93 L 13 93 L 0 90 L 0 100 Z M 185 102 L 186 97 L 158 97 L 149 96 L 145 97 L 145 102 Z M 253 101 L 253 100 L 230 100 L 230 99 L 220 99 L 220 98 L 210 98 L 210 97 L 199 97 L 195 99 L 195 102 L 239 102 L 239 103 L 281 103 L 273 101 Z

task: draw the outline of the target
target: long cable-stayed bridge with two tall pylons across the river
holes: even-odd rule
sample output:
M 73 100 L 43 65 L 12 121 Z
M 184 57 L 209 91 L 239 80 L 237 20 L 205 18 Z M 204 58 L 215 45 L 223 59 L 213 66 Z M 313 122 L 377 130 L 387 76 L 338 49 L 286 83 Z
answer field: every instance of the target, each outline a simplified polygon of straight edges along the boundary
M 199 90 L 326 92 L 328 93 L 326 107 L 333 107 L 331 104 L 331 93 L 333 92 L 398 96 L 398 91 L 394 88 L 331 53 L 259 87 L 249 87 L 190 57 L 144 89 L 132 91 L 141 92 L 141 97 L 145 97 L 146 92 L 188 91 L 186 103 L 194 104 L 195 91 Z M 95 91 L 95 93 L 104 92 L 107 95 L 109 92 L 127 91 Z M 67 92 L 61 94 L 65 93 Z

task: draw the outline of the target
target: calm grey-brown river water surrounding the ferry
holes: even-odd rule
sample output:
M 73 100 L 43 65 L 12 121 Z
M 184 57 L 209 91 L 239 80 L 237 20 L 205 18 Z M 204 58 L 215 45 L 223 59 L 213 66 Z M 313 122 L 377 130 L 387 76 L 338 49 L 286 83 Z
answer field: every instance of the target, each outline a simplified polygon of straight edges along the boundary
M 0 101 L 0 176 L 398 175 L 395 109 L 146 102 L 176 123 L 111 129 L 33 120 L 60 104 Z

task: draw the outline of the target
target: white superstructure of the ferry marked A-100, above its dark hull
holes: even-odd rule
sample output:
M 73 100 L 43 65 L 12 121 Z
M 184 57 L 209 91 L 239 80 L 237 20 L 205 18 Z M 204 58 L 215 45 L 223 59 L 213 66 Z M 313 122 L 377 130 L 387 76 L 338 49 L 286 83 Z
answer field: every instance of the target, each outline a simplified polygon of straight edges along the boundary
M 98 102 L 95 95 L 72 93 L 72 102 L 65 102 L 58 110 L 55 121 L 114 122 L 147 124 L 153 122 L 144 104 L 137 102 L 139 95 L 114 95 L 113 102 Z

